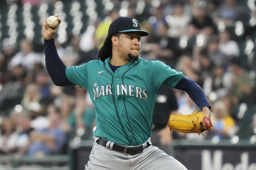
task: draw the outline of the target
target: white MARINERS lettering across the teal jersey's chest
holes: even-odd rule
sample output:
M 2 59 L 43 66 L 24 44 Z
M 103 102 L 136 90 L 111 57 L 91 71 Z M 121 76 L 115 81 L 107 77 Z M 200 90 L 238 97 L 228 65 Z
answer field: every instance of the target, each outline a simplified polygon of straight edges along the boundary
M 134 96 L 143 100 L 147 99 L 147 89 L 142 89 L 141 87 L 127 85 L 127 84 L 116 84 L 116 94 L 115 95 L 126 95 Z M 100 89 L 100 90 L 99 90 Z M 94 99 L 96 100 L 101 96 L 113 95 L 111 92 L 111 85 L 96 86 L 93 89 Z

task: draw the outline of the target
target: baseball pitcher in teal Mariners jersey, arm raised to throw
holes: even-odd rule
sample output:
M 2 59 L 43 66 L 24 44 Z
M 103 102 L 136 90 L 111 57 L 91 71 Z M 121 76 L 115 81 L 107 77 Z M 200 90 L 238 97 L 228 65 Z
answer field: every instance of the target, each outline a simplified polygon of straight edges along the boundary
M 43 22 L 47 71 L 57 86 L 85 88 L 95 105 L 95 142 L 85 169 L 186 170 L 172 156 L 151 145 L 154 103 L 161 85 L 186 91 L 202 112 L 171 115 L 169 127 L 200 135 L 212 128 L 211 106 L 202 88 L 160 61 L 139 57 L 140 38 L 149 33 L 140 29 L 135 18 L 119 17 L 110 24 L 98 60 L 68 68 L 54 45 L 57 28 Z

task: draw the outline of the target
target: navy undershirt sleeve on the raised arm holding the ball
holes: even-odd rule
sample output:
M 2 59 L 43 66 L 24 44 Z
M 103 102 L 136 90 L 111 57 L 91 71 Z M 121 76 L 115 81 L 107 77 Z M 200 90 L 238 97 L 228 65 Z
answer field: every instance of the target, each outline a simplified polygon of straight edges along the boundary
M 66 66 L 59 58 L 54 39 L 45 40 L 45 64 L 51 80 L 56 86 L 74 85 L 66 76 Z

